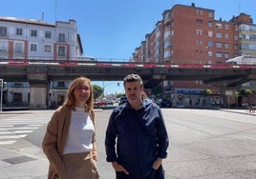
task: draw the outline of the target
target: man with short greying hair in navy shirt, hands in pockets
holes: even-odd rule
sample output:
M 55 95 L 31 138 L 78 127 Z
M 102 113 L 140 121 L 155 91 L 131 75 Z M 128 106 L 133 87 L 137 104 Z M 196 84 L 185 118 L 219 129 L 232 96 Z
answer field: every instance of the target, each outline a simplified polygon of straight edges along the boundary
M 160 107 L 147 100 L 138 74 L 123 81 L 127 103 L 113 110 L 106 130 L 107 162 L 117 179 L 164 179 L 168 134 Z

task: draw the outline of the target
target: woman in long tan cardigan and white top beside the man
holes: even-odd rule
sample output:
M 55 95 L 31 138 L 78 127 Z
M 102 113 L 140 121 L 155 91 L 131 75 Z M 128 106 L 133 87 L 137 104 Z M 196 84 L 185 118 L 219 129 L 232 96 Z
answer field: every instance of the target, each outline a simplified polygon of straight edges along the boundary
M 91 81 L 76 78 L 63 106 L 47 126 L 43 150 L 50 162 L 49 179 L 95 179 L 96 137 Z

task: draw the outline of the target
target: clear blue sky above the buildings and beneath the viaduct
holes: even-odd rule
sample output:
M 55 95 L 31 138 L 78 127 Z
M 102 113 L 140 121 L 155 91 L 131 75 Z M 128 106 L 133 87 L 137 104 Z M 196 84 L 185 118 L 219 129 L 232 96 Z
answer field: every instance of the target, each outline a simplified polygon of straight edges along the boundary
M 127 60 L 156 28 L 162 12 L 174 5 L 215 10 L 215 19 L 230 20 L 241 12 L 256 24 L 256 0 L 8 0 L 1 3 L 0 16 L 55 21 L 76 21 L 85 56 Z M 123 92 L 122 83 L 94 82 L 109 93 Z

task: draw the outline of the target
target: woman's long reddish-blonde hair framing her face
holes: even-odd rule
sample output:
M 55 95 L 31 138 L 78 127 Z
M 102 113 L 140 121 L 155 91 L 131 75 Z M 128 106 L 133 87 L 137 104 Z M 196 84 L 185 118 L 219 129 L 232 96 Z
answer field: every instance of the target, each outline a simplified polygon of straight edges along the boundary
M 71 85 L 67 91 L 67 99 L 65 100 L 63 105 L 66 105 L 66 106 L 72 108 L 73 110 L 75 110 L 75 94 L 74 94 L 75 88 L 83 85 L 85 82 L 89 85 L 90 96 L 89 96 L 88 100 L 86 101 L 86 105 L 84 108 L 85 108 L 85 111 L 87 111 L 87 112 L 93 111 L 93 109 L 94 109 L 94 90 L 91 85 L 91 80 L 84 76 L 75 78 L 75 80 L 71 83 Z

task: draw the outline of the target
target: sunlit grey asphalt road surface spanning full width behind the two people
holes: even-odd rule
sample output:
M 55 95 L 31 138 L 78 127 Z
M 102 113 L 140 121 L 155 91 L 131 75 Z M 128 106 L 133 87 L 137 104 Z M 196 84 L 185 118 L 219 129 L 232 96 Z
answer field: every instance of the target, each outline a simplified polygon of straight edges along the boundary
M 111 111 L 96 112 L 97 167 L 101 179 L 115 178 L 111 164 L 105 160 L 104 149 L 105 129 Z M 255 115 L 209 109 L 162 109 L 162 112 L 170 138 L 168 157 L 163 160 L 166 179 L 256 178 Z M 15 178 L 13 172 L 18 172 L 18 178 L 46 178 L 48 161 L 41 151 L 41 141 L 52 113 L 53 110 L 34 110 L 0 114 L 0 131 L 10 125 L 9 121 L 16 127 L 21 127 L 24 121 L 30 123 L 27 126 L 36 126 L 31 124 L 32 121 L 38 123 L 37 129 L 32 129 L 13 144 L 0 145 L 1 179 Z M 0 134 L 0 142 L 4 140 L 1 136 L 4 135 Z M 6 159 L 17 153 L 34 160 L 7 165 Z M 25 177 L 28 170 L 33 171 L 31 177 Z

